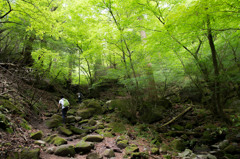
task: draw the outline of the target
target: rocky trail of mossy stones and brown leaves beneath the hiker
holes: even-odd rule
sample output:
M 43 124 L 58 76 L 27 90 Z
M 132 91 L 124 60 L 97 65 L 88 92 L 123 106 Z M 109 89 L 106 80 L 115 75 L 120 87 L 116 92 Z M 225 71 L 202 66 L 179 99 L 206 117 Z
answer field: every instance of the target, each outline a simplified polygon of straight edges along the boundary
M 113 133 L 102 116 L 82 119 L 71 111 L 70 114 L 66 125 L 61 124 L 60 114 L 53 113 L 47 113 L 40 123 L 35 121 L 31 138 L 38 145 L 35 150 L 40 158 L 161 158 L 158 152 L 151 152 L 150 144 L 144 139 Z M 56 125 L 60 127 L 55 128 Z

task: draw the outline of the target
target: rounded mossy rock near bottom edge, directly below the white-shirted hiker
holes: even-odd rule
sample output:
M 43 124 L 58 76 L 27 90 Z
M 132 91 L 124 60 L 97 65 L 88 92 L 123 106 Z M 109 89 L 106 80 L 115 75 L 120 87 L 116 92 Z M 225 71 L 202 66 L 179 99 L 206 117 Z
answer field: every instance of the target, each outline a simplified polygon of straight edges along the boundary
M 54 154 L 57 156 L 74 157 L 76 152 L 72 145 L 62 145 L 56 148 L 56 151 Z

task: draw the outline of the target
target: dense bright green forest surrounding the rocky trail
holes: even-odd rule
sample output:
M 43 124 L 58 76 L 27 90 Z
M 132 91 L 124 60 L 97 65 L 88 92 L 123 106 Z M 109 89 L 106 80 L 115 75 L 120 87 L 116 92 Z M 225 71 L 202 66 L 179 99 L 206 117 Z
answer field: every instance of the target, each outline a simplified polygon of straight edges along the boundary
M 150 147 L 165 144 L 170 151 L 171 144 L 187 142 L 165 156 L 146 157 L 140 149 L 141 154 L 125 158 L 174 158 L 182 155 L 176 152 L 227 139 L 221 154 L 211 156 L 237 159 L 240 1 L 0 0 L 0 79 L 0 132 L 22 133 L 13 126 L 16 116 L 25 123 L 24 130 L 41 130 L 28 129 L 26 123 L 31 116 L 56 115 L 64 95 L 83 119 L 92 108 L 90 114 L 105 114 L 98 118 L 113 122 L 107 123 L 114 133 L 136 133 L 149 139 Z M 77 92 L 84 96 L 81 104 Z M 181 123 L 189 113 L 190 119 Z M 114 127 L 120 121 L 123 124 Z M 203 128 L 195 130 L 191 121 Z M 136 125 L 134 133 L 116 128 L 128 124 Z M 209 141 L 213 134 L 215 142 Z M 204 141 L 193 144 L 196 136 Z M 7 152 L 8 146 L 0 144 L 0 149 Z

